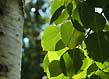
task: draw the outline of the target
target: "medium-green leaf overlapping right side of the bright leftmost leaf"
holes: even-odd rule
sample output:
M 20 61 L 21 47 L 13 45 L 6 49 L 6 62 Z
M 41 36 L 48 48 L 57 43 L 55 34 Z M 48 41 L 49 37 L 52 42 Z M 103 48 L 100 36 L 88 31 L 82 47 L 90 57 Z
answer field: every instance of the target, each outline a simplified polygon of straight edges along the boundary
M 73 28 L 71 22 L 66 22 L 61 26 L 61 37 L 65 46 L 75 48 L 84 38 L 84 33 Z

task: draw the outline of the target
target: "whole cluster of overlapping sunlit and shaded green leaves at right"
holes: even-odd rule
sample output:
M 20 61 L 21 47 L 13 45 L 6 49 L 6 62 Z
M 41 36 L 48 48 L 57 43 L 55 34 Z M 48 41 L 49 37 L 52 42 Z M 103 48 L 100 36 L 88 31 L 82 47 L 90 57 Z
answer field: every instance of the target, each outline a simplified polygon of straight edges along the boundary
M 54 0 L 51 14 L 42 36 L 48 78 L 109 79 L 109 1 Z

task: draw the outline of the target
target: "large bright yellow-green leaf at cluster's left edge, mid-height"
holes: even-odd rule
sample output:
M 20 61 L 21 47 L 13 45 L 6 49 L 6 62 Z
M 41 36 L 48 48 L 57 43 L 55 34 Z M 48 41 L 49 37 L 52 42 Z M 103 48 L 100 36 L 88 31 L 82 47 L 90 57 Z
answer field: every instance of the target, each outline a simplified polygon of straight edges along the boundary
M 56 26 L 49 26 L 45 29 L 42 36 L 42 48 L 46 51 L 54 51 L 57 42 L 61 39 L 60 29 Z

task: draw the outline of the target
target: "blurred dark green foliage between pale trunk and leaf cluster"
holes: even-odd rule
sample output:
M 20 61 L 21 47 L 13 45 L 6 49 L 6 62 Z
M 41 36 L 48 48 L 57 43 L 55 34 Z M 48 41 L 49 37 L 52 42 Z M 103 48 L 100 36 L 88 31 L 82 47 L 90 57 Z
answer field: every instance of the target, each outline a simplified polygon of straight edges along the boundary
M 26 0 L 24 6 L 26 15 L 21 79 L 42 79 L 45 73 L 41 63 L 45 53 L 42 52 L 40 40 L 44 24 L 49 20 L 49 3 L 46 0 Z M 48 16 L 42 16 L 41 11 Z

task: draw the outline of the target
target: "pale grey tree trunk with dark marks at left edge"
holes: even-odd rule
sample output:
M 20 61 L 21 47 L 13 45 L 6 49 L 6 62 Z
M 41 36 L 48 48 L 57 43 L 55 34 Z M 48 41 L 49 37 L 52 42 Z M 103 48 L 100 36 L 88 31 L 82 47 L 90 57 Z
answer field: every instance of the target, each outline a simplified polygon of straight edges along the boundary
M 23 22 L 21 0 L 0 0 L 0 79 L 20 79 Z

